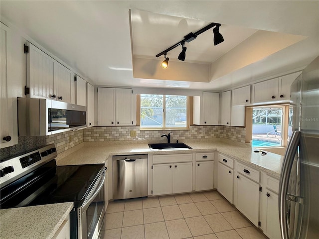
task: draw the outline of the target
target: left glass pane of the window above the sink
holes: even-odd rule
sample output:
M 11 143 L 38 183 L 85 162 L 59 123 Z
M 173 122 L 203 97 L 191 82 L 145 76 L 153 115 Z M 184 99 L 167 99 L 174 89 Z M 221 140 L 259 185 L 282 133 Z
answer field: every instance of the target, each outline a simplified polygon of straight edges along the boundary
M 141 95 L 141 128 L 163 127 L 163 96 Z

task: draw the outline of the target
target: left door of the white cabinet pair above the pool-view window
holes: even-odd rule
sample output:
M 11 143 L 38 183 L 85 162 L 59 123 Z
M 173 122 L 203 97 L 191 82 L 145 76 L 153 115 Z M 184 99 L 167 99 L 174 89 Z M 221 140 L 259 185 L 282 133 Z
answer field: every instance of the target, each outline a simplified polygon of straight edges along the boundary
M 253 85 L 253 103 L 278 100 L 278 78 Z

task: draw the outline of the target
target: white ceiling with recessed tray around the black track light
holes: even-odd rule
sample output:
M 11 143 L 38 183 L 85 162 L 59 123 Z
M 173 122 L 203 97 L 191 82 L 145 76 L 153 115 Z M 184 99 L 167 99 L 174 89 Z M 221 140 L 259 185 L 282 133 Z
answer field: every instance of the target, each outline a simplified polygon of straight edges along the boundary
M 95 85 L 222 90 L 293 71 L 319 55 L 319 1 L 1 0 L 0 11 L 1 21 Z M 186 45 L 185 62 L 174 60 L 177 47 L 169 52 L 169 71 L 141 72 L 149 70 L 145 62 L 163 60 L 156 54 L 210 22 L 221 23 L 223 43 L 213 46 L 208 30 Z M 269 40 L 266 47 L 260 40 L 266 33 L 285 42 Z M 142 58 L 144 68 L 133 72 Z M 188 74 L 176 70 L 199 65 L 208 67 L 207 81 L 183 80 Z

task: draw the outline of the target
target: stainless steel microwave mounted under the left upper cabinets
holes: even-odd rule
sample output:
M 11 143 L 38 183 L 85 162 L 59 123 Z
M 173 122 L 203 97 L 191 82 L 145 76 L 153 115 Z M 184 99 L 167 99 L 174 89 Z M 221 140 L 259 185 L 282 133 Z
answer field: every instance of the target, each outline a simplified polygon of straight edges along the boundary
M 86 127 L 86 107 L 49 99 L 17 98 L 18 135 L 41 136 Z

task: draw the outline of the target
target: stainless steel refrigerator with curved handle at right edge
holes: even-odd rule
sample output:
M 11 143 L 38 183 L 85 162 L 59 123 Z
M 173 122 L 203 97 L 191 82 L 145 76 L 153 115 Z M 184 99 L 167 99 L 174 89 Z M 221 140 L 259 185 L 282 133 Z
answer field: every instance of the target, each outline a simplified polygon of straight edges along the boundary
M 291 86 L 292 134 L 279 185 L 283 239 L 319 239 L 319 57 Z

